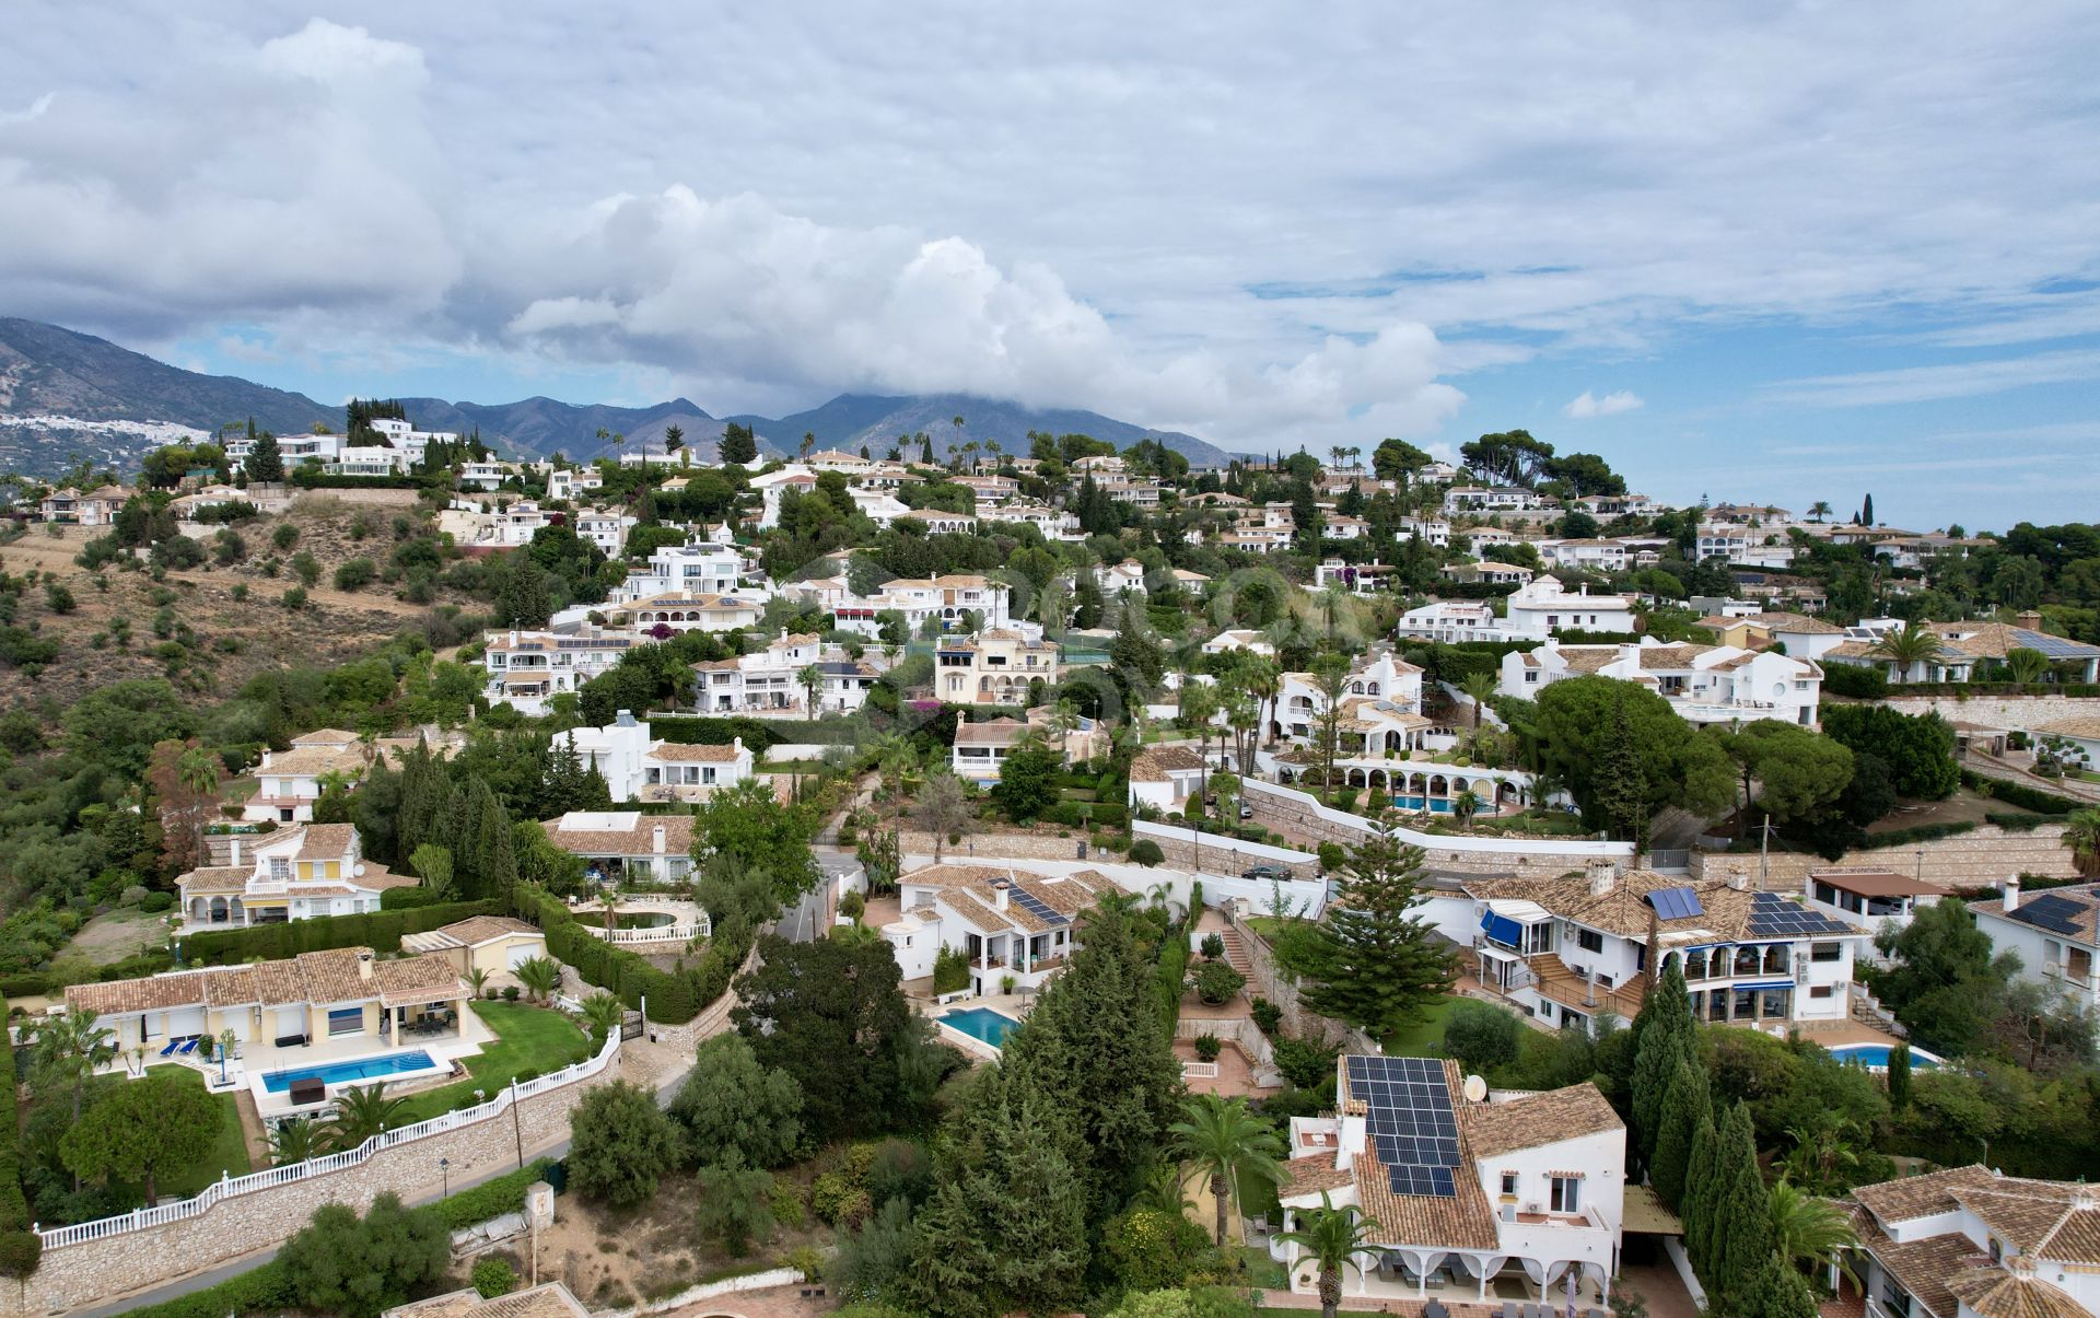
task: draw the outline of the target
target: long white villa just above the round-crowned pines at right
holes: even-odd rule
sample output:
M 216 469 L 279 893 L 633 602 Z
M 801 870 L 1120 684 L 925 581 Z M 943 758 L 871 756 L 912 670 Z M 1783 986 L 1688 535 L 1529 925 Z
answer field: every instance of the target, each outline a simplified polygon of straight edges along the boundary
M 1636 682 L 1670 701 L 1695 724 L 1735 724 L 1758 718 L 1816 726 L 1823 669 L 1808 659 L 1728 644 L 1558 644 L 1502 657 L 1502 695 L 1522 701 L 1562 678 L 1617 678 Z

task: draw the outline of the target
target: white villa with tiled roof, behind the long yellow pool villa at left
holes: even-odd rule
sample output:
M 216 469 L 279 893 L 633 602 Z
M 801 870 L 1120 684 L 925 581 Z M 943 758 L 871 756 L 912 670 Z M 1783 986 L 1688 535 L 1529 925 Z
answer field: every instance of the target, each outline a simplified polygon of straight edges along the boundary
M 416 888 L 414 875 L 365 860 L 357 825 L 298 825 L 248 844 L 233 842 L 231 865 L 178 877 L 183 930 L 286 923 L 315 915 L 380 909 L 388 888 Z

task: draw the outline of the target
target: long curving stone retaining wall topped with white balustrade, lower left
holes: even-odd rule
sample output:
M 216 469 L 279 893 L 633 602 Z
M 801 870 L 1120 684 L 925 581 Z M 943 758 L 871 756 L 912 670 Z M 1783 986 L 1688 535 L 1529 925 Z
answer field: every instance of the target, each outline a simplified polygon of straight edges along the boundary
M 44 1261 L 25 1284 L 0 1287 L 0 1316 L 105 1305 L 170 1278 L 229 1263 L 281 1245 L 326 1203 L 342 1203 L 361 1213 L 386 1190 L 401 1198 L 430 1194 L 439 1188 L 439 1158 L 452 1161 L 456 1186 L 512 1171 L 519 1167 L 521 1142 L 525 1161 L 531 1161 L 536 1152 L 567 1140 L 571 1108 L 592 1085 L 615 1079 L 617 1060 L 575 1085 L 536 1093 L 475 1125 L 384 1148 L 357 1167 L 223 1198 L 183 1221 L 44 1251 Z

